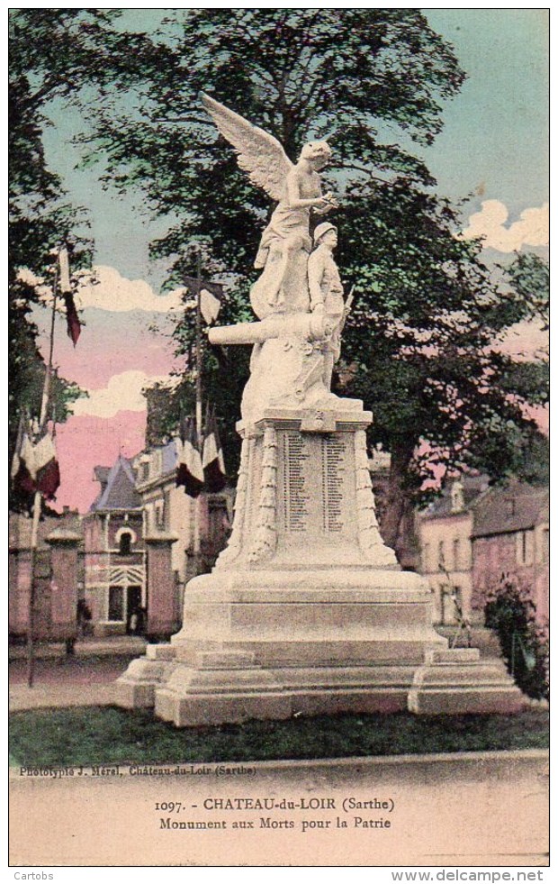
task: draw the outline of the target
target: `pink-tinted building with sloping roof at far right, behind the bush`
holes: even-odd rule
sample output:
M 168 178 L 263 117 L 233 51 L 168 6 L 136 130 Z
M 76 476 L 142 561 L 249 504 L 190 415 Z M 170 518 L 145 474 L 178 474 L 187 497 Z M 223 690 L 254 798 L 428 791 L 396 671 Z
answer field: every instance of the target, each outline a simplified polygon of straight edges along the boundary
M 503 575 L 530 589 L 541 622 L 549 611 L 549 490 L 512 482 L 491 488 L 473 511 L 477 605 Z

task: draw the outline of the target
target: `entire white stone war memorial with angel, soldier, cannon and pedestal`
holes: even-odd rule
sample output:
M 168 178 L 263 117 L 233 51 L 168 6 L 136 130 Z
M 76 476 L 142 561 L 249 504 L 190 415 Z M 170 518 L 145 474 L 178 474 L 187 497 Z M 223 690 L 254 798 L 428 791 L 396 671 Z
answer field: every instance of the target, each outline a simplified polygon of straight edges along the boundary
M 179 727 L 336 712 L 517 711 L 501 661 L 449 650 L 426 582 L 382 540 L 366 451 L 370 412 L 330 391 L 350 298 L 337 230 L 311 214 L 329 145 L 296 164 L 271 135 L 202 97 L 252 182 L 277 202 L 250 301 L 257 322 L 210 341 L 252 345 L 241 404 L 232 533 L 211 574 L 185 590 L 182 630 L 118 679 L 121 706 Z

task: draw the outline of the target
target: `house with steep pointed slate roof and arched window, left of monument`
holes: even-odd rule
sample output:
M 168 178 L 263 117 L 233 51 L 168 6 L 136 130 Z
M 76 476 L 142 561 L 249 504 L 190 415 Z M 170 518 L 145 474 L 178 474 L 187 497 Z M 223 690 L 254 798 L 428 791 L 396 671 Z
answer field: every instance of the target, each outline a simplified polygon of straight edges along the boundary
M 226 543 L 232 489 L 189 497 L 176 487 L 177 453 L 176 442 L 166 442 L 94 470 L 101 490 L 84 529 L 85 601 L 95 634 L 130 632 L 138 613 L 148 635 L 175 633 L 185 584 L 211 570 Z

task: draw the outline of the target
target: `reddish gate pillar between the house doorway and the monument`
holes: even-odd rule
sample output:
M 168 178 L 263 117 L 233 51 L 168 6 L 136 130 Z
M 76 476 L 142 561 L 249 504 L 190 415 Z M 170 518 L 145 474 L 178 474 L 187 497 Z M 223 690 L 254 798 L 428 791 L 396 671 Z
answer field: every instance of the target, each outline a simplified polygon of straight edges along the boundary
M 172 534 L 156 534 L 145 538 L 148 583 L 147 633 L 153 636 L 175 632 L 175 576 L 172 564 Z

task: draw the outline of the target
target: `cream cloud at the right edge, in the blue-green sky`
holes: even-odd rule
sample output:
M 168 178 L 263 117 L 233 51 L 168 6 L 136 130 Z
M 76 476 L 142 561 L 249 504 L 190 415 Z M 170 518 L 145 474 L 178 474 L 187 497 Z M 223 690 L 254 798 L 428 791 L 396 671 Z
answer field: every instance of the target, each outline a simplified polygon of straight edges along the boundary
M 484 200 L 480 212 L 469 218 L 469 227 L 463 232 L 465 240 L 482 236 L 485 249 L 517 251 L 521 246 L 548 245 L 548 203 L 525 209 L 519 220 L 506 227 L 509 211 L 498 199 Z

